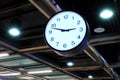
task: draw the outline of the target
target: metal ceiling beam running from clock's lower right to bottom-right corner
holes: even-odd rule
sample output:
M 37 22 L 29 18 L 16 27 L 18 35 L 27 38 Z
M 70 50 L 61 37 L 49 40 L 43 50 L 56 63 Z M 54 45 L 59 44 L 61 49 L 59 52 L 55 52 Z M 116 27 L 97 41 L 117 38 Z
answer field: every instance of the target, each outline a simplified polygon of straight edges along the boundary
M 88 49 L 84 50 L 84 52 L 96 63 L 98 63 L 111 77 L 120 79 L 120 76 L 115 73 L 115 71 L 110 68 L 109 64 L 105 61 L 105 59 L 97 52 L 97 50 L 88 46 Z

